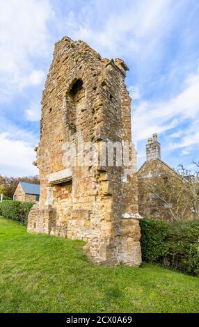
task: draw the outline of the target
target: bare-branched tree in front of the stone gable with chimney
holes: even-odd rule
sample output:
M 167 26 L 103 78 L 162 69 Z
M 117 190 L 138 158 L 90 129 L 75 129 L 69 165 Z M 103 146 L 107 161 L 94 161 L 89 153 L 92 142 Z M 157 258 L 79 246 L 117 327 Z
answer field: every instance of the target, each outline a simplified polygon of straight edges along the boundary
M 198 168 L 199 164 L 194 163 Z M 199 172 L 194 173 L 179 165 L 148 182 L 148 191 L 164 205 L 173 221 L 199 218 Z

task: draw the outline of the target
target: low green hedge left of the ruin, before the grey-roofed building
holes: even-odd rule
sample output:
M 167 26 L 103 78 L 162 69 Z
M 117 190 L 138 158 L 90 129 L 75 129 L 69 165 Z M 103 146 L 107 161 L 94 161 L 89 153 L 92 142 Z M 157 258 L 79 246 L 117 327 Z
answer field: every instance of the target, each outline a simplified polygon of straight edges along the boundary
M 3 200 L 0 211 L 4 218 L 12 219 L 13 221 L 18 221 L 26 225 L 29 212 L 33 205 L 33 202 Z

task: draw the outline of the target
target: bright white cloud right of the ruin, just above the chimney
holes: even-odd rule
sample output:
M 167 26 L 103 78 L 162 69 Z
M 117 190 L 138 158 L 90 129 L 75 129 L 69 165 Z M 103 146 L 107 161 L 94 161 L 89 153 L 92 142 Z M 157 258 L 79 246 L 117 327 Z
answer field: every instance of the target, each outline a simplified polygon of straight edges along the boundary
M 143 140 L 152 133 L 178 127 L 182 122 L 195 120 L 199 115 L 199 74 L 191 74 L 184 81 L 184 89 L 164 102 L 141 101 L 132 103 L 134 138 Z M 190 122 L 189 122 L 190 123 Z M 176 135 L 174 135 L 176 137 Z M 174 137 L 173 136 L 173 137 Z M 182 146 L 199 142 L 197 127 Z

